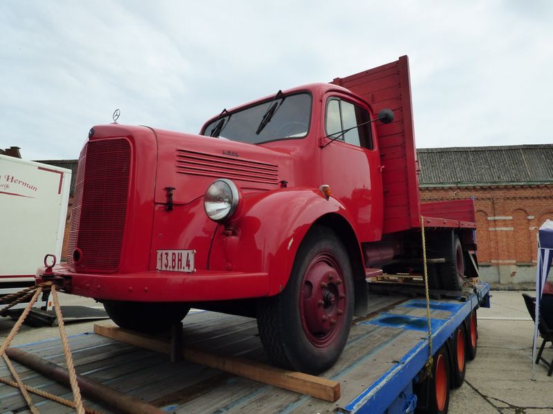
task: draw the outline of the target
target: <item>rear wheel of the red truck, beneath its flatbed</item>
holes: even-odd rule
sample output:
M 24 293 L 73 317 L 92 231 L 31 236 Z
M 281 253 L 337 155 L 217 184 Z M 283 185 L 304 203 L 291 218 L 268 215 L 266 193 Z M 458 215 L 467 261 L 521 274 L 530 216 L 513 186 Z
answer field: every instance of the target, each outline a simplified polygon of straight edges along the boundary
M 465 284 L 465 260 L 459 237 L 451 232 L 444 238 L 442 255 L 446 263 L 440 265 L 440 283 L 445 290 L 461 290 Z

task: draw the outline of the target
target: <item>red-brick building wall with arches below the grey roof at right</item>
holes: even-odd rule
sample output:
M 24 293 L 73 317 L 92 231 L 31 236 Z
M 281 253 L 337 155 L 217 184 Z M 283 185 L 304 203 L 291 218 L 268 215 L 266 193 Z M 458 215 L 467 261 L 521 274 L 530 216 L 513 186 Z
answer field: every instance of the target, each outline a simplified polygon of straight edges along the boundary
M 534 282 L 537 231 L 553 220 L 553 184 L 421 188 L 421 200 L 474 197 L 481 275 L 501 284 Z

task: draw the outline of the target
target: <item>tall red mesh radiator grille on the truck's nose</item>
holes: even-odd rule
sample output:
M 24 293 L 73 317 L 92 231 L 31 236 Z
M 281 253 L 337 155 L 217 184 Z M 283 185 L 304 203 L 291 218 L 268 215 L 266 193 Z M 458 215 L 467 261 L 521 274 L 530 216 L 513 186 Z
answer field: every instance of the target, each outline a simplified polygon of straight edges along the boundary
M 89 141 L 79 157 L 67 263 L 73 271 L 114 272 L 119 267 L 131 169 L 126 139 Z M 81 259 L 75 263 L 73 251 Z

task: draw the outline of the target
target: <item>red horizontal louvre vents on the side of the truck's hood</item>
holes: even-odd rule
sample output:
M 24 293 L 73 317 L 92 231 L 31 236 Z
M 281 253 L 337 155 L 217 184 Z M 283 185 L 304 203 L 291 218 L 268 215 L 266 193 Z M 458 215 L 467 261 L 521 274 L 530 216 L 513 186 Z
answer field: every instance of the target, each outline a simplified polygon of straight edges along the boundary
M 177 150 L 177 172 L 207 177 L 229 178 L 256 183 L 278 184 L 279 168 L 274 164 L 232 156 Z

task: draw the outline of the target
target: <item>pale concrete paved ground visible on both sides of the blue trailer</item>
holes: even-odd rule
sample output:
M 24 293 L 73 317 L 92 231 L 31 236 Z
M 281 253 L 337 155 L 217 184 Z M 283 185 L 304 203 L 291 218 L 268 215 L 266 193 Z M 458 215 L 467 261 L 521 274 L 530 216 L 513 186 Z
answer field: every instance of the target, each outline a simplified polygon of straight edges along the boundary
M 533 324 L 521 293 L 494 292 L 491 309 L 478 311 L 478 353 L 467 366 L 465 384 L 451 394 L 449 413 L 553 413 L 553 377 L 543 364 L 536 366 L 531 380 Z M 100 306 L 92 299 L 62 295 L 62 305 Z M 68 324 L 69 335 L 92 331 L 94 322 Z M 0 318 L 0 342 L 14 322 Z M 55 327 L 24 326 L 13 344 L 27 344 L 56 337 Z M 553 358 L 553 349 L 545 351 Z

